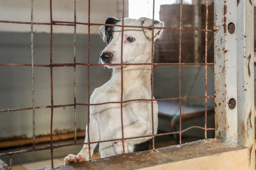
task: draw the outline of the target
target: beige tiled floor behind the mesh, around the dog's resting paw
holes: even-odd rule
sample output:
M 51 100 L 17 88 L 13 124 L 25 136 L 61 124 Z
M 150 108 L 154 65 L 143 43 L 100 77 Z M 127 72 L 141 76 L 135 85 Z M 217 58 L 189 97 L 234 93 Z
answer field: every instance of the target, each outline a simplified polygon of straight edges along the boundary
M 99 153 L 94 153 L 92 156 L 92 159 L 99 159 L 101 158 L 101 155 Z M 63 165 L 63 158 L 53 159 L 53 165 L 59 166 Z M 45 160 L 45 161 L 38 161 L 38 162 L 32 162 L 32 163 L 25 163 L 23 165 L 16 165 L 12 166 L 12 170 L 29 170 L 29 169 L 37 169 L 37 168 L 44 168 L 44 167 L 51 167 L 52 161 L 51 160 Z

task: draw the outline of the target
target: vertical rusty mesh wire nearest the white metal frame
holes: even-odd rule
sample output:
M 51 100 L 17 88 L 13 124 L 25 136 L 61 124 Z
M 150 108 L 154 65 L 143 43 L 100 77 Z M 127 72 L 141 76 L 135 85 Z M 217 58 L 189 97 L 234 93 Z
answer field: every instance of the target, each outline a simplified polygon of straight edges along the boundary
M 208 29 L 208 0 L 206 0 L 206 17 L 205 29 Z M 205 31 L 205 120 L 204 120 L 204 137 L 207 139 L 207 47 L 208 47 L 208 32 Z

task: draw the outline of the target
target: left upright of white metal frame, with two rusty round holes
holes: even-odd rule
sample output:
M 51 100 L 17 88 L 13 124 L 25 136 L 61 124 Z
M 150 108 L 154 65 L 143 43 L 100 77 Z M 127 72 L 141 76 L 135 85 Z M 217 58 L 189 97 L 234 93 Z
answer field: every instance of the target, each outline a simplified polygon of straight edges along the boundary
M 215 0 L 215 137 L 226 143 L 237 143 L 237 31 L 232 30 L 236 17 L 236 3 Z

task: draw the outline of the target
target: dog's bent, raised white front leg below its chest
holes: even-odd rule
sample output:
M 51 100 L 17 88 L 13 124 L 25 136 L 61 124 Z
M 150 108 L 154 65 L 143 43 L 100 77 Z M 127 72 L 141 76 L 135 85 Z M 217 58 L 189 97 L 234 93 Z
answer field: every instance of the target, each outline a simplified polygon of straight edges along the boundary
M 136 137 L 136 136 L 145 136 L 152 134 L 152 130 L 147 129 L 148 125 L 147 122 L 137 121 L 134 124 L 124 126 L 124 138 Z M 114 139 L 122 138 L 122 130 L 118 130 L 115 135 L 113 136 Z M 133 152 L 133 150 L 128 149 L 127 144 L 131 143 L 132 145 L 136 143 L 142 143 L 150 139 L 150 137 L 145 138 L 137 138 L 137 139 L 128 139 L 124 141 L 125 145 L 125 153 Z M 114 150 L 116 154 L 123 154 L 123 143 L 122 141 L 114 141 L 113 142 Z

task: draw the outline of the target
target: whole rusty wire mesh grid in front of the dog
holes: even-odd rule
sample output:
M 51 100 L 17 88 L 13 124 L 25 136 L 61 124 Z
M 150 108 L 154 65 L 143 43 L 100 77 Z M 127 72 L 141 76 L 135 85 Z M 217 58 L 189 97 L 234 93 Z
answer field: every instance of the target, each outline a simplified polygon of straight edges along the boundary
M 112 25 L 112 24 L 101 24 L 101 23 L 91 23 L 90 22 L 90 0 L 88 0 L 88 22 L 76 22 L 76 0 L 74 0 L 74 22 L 66 22 L 66 21 L 54 21 L 52 17 L 52 0 L 49 1 L 50 3 L 50 17 L 51 22 L 50 23 L 42 23 L 42 22 L 33 22 L 33 0 L 31 0 L 31 22 L 19 22 L 19 21 L 2 21 L 2 23 L 19 23 L 19 24 L 30 24 L 31 25 L 31 64 L 20 64 L 20 63 L 0 63 L 0 66 L 31 66 L 31 79 L 32 79 L 32 107 L 27 108 L 10 108 L 10 109 L 4 109 L 0 110 L 0 112 L 9 112 L 9 111 L 21 111 L 21 110 L 32 110 L 33 111 L 33 147 L 31 149 L 27 150 L 19 150 L 19 151 L 13 151 L 8 153 L 2 153 L 0 156 L 3 155 L 9 155 L 9 165 L 12 166 L 12 155 L 13 154 L 20 154 L 20 153 L 26 153 L 31 151 L 38 151 L 38 150 L 51 150 L 51 161 L 52 161 L 52 168 L 53 165 L 53 149 L 70 146 L 70 145 L 81 145 L 81 144 L 88 144 L 90 148 L 90 144 L 92 143 L 102 143 L 102 142 L 109 142 L 109 141 L 122 141 L 123 142 L 123 152 L 125 154 L 124 150 L 124 140 L 126 139 L 135 139 L 135 138 L 143 138 L 143 137 L 152 137 L 153 138 L 153 151 L 155 150 L 155 142 L 154 137 L 155 136 L 161 136 L 161 135 L 169 135 L 169 134 L 178 134 L 179 133 L 179 143 L 181 144 L 181 134 L 189 129 L 192 128 L 199 128 L 203 129 L 205 131 L 205 138 L 207 138 L 207 130 L 214 130 L 214 128 L 207 128 L 207 99 L 208 98 L 214 98 L 214 96 L 208 96 L 207 95 L 207 66 L 208 65 L 214 65 L 214 63 L 208 63 L 207 62 L 207 41 L 208 41 L 208 32 L 213 31 L 213 29 L 208 29 L 208 0 L 206 0 L 206 23 L 205 23 L 205 29 L 193 29 L 193 28 L 182 28 L 182 0 L 180 4 L 180 27 L 179 28 L 171 28 L 171 27 L 154 27 L 154 0 L 153 0 L 153 21 L 151 27 L 144 27 L 144 26 L 126 26 L 124 25 L 124 0 L 123 6 L 122 6 L 122 25 Z M 254 19 L 255 20 L 255 19 Z M 51 40 L 50 40 L 50 64 L 34 64 L 34 53 L 33 53 L 33 25 L 50 25 L 51 26 Z M 74 62 L 73 63 L 64 63 L 64 64 L 57 64 L 52 62 L 52 37 L 53 37 L 53 25 L 62 25 L 62 26 L 74 26 Z M 76 63 L 76 25 L 87 25 L 88 26 L 88 58 L 87 63 Z M 91 64 L 90 63 L 90 26 L 117 26 L 122 28 L 122 37 L 121 41 L 123 42 L 123 32 L 125 27 L 133 27 L 133 28 L 151 28 L 152 29 L 152 54 L 154 53 L 154 29 L 153 28 L 159 28 L 159 29 L 176 29 L 180 32 L 180 38 L 179 38 L 179 63 L 154 63 L 153 62 L 153 55 L 151 59 L 151 63 L 136 63 L 136 64 L 129 64 L 129 63 L 123 63 L 123 43 L 121 43 L 121 64 Z M 181 41 L 182 41 L 182 31 L 184 30 L 192 30 L 192 31 L 204 31 L 205 32 L 205 62 L 204 63 L 182 63 L 181 62 Z M 87 66 L 87 78 L 88 78 L 88 103 L 76 103 L 76 66 L 77 65 L 83 65 Z M 121 96 L 119 102 L 104 102 L 104 103 L 90 103 L 90 66 L 103 66 L 103 65 L 120 65 L 121 66 Z M 152 70 L 152 95 L 151 99 L 135 99 L 135 100 L 127 100 L 123 101 L 123 66 L 124 65 L 151 65 Z M 154 65 L 179 65 L 179 97 L 177 98 L 164 98 L 164 99 L 153 99 L 153 91 L 154 91 Z M 205 95 L 204 96 L 193 96 L 193 97 L 182 97 L 181 96 L 181 65 L 205 65 Z M 73 67 L 74 68 L 74 103 L 73 104 L 65 104 L 65 105 L 54 105 L 53 104 L 53 67 Z M 51 105 L 49 106 L 38 106 L 35 107 L 35 91 L 34 91 L 34 67 L 49 67 L 50 68 L 50 76 L 51 76 Z M 181 101 L 183 99 L 195 99 L 195 98 L 204 98 L 205 99 L 205 126 L 191 126 L 190 128 L 181 129 Z M 153 101 L 160 101 L 160 100 L 179 100 L 179 109 L 180 109 L 180 129 L 176 132 L 168 132 L 168 133 L 161 133 L 161 134 L 154 134 L 154 124 L 153 124 Z M 123 103 L 131 102 L 131 101 L 151 101 L 151 108 L 152 108 L 152 135 L 146 135 L 146 136 L 137 136 L 137 137 L 130 137 L 130 138 L 124 138 L 124 129 L 123 129 Z M 121 125 L 122 125 L 122 138 L 120 139 L 111 139 L 111 140 L 105 140 L 105 141 L 97 141 L 97 142 L 90 142 L 90 134 L 89 134 L 89 123 L 90 123 L 90 106 L 93 105 L 104 105 L 109 103 L 120 103 L 121 105 Z M 88 142 L 87 143 L 77 143 L 76 141 L 76 106 L 77 105 L 84 105 L 88 106 L 88 122 L 87 122 L 87 133 L 88 133 Z M 74 143 L 66 143 L 66 144 L 58 144 L 53 145 L 53 109 L 58 107 L 66 107 L 66 106 L 74 106 L 74 126 L 75 126 L 75 135 L 74 135 Z M 47 147 L 36 147 L 35 145 L 35 110 L 41 109 L 41 108 L 51 108 L 51 143 Z M 91 161 L 91 150 L 89 149 L 89 159 Z

